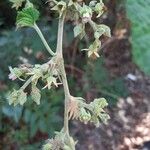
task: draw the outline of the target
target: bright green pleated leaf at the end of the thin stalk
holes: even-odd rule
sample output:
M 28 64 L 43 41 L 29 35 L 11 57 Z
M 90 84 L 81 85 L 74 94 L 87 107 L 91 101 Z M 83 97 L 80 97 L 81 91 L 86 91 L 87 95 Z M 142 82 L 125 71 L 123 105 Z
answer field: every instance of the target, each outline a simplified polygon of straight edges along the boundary
M 39 18 L 39 11 L 33 7 L 24 8 L 17 14 L 17 27 L 32 27 Z

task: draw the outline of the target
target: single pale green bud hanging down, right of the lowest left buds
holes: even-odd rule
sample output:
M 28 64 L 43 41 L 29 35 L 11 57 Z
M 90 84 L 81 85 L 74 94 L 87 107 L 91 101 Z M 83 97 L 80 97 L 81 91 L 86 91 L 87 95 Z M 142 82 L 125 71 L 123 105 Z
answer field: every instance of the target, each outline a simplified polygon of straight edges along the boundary
M 41 93 L 35 84 L 32 84 L 31 98 L 37 105 L 40 105 Z

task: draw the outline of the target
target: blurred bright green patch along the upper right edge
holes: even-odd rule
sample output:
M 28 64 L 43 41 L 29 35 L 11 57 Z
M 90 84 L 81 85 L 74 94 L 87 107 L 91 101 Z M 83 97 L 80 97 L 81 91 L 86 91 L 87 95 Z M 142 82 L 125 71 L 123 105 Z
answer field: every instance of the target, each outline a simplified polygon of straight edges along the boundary
M 133 58 L 150 75 L 150 1 L 127 0 L 127 14 L 132 24 Z

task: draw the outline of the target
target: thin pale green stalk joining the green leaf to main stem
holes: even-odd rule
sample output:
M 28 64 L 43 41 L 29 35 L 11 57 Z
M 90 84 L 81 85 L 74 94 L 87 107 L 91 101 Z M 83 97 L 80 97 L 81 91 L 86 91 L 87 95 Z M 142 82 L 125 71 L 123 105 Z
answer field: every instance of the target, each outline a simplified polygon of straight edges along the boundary
M 44 36 L 43 36 L 41 30 L 39 29 L 39 27 L 37 26 L 36 23 L 34 24 L 33 28 L 36 30 L 36 32 L 37 32 L 38 35 L 40 36 L 40 38 L 41 38 L 41 40 L 42 40 L 44 46 L 45 46 L 46 49 L 47 49 L 47 51 L 48 51 L 52 56 L 56 55 L 56 54 L 51 50 L 51 48 L 49 47 L 49 45 L 48 45 L 48 43 L 46 42 L 46 40 L 45 40 L 45 38 L 44 38 Z

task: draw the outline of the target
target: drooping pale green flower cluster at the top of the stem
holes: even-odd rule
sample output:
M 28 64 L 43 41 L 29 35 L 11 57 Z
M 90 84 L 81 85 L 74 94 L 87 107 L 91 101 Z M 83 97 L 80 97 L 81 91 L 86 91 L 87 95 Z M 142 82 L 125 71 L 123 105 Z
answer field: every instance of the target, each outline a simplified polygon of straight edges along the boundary
M 79 36 L 82 39 L 85 32 L 85 24 L 89 23 L 94 30 L 94 42 L 89 46 L 88 49 L 83 49 L 88 51 L 88 57 L 99 57 L 99 50 L 101 48 L 101 42 L 99 38 L 104 35 L 107 37 L 111 36 L 110 28 L 104 24 L 96 24 L 92 21 L 92 16 L 94 13 L 97 14 L 97 17 L 100 17 L 105 10 L 104 3 L 102 0 L 99 2 L 93 0 L 88 5 L 86 5 L 83 1 L 78 0 L 70 0 L 68 3 L 65 1 L 56 1 L 50 0 L 50 2 L 54 3 L 52 10 L 55 10 L 59 13 L 61 17 L 63 13 L 66 13 L 69 16 L 69 19 L 74 20 L 76 22 L 76 26 L 74 27 L 74 36 Z

